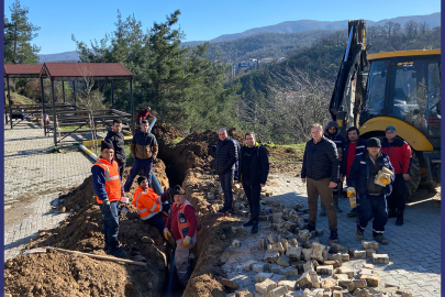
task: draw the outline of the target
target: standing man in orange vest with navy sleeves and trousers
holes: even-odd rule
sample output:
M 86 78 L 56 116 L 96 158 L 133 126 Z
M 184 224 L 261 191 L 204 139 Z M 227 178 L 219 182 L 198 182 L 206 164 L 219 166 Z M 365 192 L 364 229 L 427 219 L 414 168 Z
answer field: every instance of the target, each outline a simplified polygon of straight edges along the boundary
M 103 250 L 114 256 L 124 256 L 125 252 L 119 244 L 119 201 L 127 202 L 121 178 L 119 177 L 118 163 L 113 160 L 114 147 L 111 141 L 102 141 L 100 157 L 91 167 L 92 188 L 100 211 L 103 215 L 103 234 L 105 246 Z

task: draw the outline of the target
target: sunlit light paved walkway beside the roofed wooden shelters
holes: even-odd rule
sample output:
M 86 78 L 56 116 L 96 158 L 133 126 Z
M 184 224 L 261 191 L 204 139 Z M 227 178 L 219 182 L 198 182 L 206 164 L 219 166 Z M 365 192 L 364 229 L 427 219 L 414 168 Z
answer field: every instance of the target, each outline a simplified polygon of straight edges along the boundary
M 4 125 L 4 216 L 14 204 L 25 208 L 4 226 L 4 260 L 20 253 L 23 244 L 35 238 L 38 230 L 55 228 L 67 213 L 53 206 L 58 196 L 90 175 L 92 162 L 76 145 L 86 136 L 68 136 L 62 153 L 52 153 L 53 136 L 33 123 L 21 123 L 11 130 Z

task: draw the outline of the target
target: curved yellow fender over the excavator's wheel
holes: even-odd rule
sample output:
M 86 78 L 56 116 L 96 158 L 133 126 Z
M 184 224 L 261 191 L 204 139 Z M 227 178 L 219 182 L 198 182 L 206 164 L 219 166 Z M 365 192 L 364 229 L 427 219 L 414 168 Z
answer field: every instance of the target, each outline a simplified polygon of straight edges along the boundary
M 363 135 L 372 131 L 385 132 L 385 129 L 388 125 L 393 125 L 397 130 L 397 134 L 408 142 L 408 144 L 410 144 L 415 151 L 433 151 L 433 145 L 421 131 L 419 131 L 415 127 L 396 118 L 372 118 L 366 121 L 358 130 L 360 131 L 360 135 Z

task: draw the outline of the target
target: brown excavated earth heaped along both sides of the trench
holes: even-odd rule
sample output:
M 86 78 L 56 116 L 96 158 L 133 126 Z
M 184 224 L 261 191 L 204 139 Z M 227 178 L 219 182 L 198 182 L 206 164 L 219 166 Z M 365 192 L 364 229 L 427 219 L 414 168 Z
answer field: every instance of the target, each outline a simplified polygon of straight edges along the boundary
M 193 272 L 182 296 L 225 296 L 219 282 L 224 276 L 220 256 L 227 248 L 231 226 L 240 219 L 216 213 L 218 204 L 209 204 L 205 186 L 214 182 L 212 145 L 218 141 L 214 130 L 182 135 L 171 127 L 156 124 L 153 133 L 159 144 L 162 161 L 154 164 L 154 172 L 162 187 L 169 179 L 182 182 L 187 197 L 197 210 L 201 226 L 192 253 Z M 230 130 L 232 138 L 243 144 L 243 135 Z M 269 156 L 299 166 L 301 156 L 294 152 L 268 147 Z M 165 164 L 164 164 L 165 163 Z M 292 165 L 293 164 L 293 165 Z M 271 172 L 283 169 L 271 164 Z M 130 168 L 125 169 L 124 179 Z M 136 188 L 134 183 L 130 198 Z M 107 255 L 103 248 L 103 219 L 93 197 L 91 177 L 71 193 L 60 197 L 59 210 L 70 216 L 59 227 L 41 231 L 37 239 L 25 250 L 54 246 L 97 255 Z M 119 241 L 127 258 L 146 262 L 146 266 L 94 260 L 51 250 L 48 252 L 19 255 L 4 264 L 4 293 L 12 296 L 162 296 L 167 282 L 167 246 L 160 233 L 140 220 L 135 208 L 127 216 L 120 215 Z M 221 240 L 226 234 L 227 240 Z M 223 237 L 224 238 L 224 237 Z

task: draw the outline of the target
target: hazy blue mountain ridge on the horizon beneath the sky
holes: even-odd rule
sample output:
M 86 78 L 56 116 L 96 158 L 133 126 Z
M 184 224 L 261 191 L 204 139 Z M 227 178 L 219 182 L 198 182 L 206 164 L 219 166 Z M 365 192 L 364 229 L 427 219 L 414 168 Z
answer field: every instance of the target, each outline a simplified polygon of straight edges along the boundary
M 383 25 L 386 22 L 393 22 L 393 23 L 400 23 L 401 26 L 410 21 L 414 20 L 418 23 L 423 23 L 425 22 L 431 29 L 435 26 L 441 25 L 441 12 L 427 14 L 427 15 L 411 15 L 411 16 L 398 16 L 398 18 L 392 18 L 392 19 L 385 19 L 378 22 L 375 21 L 369 21 L 366 20 L 367 26 L 372 26 L 372 25 Z M 227 41 L 235 41 L 240 38 L 245 38 L 252 35 L 257 35 L 262 33 L 298 33 L 298 32 L 305 32 L 305 31 L 320 31 L 320 30 L 346 30 L 347 29 L 347 22 L 346 20 L 344 21 L 334 21 L 334 22 L 324 22 L 324 21 L 312 21 L 312 20 L 300 20 L 300 21 L 288 21 L 288 22 L 282 22 L 279 24 L 275 25 L 268 25 L 268 26 L 262 26 L 262 28 L 254 28 L 247 31 L 244 31 L 242 33 L 235 33 L 235 34 L 224 34 L 221 36 L 218 36 L 213 40 L 210 41 L 210 43 L 224 43 Z M 194 46 L 197 44 L 204 43 L 205 41 L 190 41 L 190 42 L 183 42 L 181 45 L 182 46 Z M 227 45 L 229 46 L 229 45 Z M 232 47 L 231 45 L 230 47 Z M 249 51 L 246 51 L 248 54 Z M 254 54 L 254 53 L 251 53 Z M 253 55 L 253 56 L 256 56 Z M 59 54 L 47 54 L 47 55 L 38 55 L 40 57 L 40 63 L 45 63 L 45 62 L 77 62 L 79 61 L 79 55 L 77 54 L 76 51 L 73 52 L 65 52 L 65 53 L 59 53 Z M 233 58 L 233 57 L 231 57 Z

